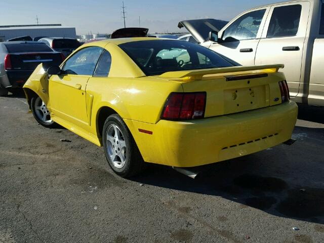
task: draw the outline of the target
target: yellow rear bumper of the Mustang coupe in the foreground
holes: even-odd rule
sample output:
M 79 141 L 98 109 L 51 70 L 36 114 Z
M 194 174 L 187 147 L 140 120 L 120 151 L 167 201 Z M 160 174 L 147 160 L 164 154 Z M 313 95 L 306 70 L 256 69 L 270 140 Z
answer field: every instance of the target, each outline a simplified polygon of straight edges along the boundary
M 295 102 L 192 121 L 157 124 L 127 120 L 145 161 L 194 167 L 251 154 L 291 138 L 297 119 Z M 138 129 L 152 131 L 140 133 Z

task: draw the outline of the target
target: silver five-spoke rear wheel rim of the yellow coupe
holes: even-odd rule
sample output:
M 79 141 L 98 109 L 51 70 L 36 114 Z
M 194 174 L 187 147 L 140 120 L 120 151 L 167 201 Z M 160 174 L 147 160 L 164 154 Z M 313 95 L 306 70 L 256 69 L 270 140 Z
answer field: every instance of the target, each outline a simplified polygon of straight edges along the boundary
M 126 142 L 123 133 L 116 125 L 111 124 L 107 129 L 106 138 L 106 149 L 113 166 L 118 169 L 123 168 L 127 159 Z

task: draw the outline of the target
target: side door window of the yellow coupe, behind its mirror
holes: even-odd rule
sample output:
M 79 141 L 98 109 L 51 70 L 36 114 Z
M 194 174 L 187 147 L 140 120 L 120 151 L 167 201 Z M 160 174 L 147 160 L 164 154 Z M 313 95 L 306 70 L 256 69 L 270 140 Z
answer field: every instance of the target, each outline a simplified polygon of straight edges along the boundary
M 88 47 L 73 54 L 64 64 L 64 73 L 92 75 L 102 50 L 100 47 Z

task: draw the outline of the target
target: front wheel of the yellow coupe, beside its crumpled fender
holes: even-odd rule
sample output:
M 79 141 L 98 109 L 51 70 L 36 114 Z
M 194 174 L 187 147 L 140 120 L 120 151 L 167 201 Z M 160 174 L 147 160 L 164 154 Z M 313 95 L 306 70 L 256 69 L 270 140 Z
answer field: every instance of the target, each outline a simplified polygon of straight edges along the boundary
M 50 112 L 41 97 L 33 97 L 30 102 L 32 114 L 37 122 L 46 128 L 54 128 L 56 123 L 51 119 Z

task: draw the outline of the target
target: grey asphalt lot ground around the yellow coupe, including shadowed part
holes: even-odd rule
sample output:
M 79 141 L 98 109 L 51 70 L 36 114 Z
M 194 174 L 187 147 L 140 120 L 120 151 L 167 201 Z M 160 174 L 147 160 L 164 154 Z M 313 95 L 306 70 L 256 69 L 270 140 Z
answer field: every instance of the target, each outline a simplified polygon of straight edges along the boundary
M 23 96 L 0 97 L 0 243 L 324 242 L 324 110 L 299 118 L 292 146 L 195 180 L 157 165 L 127 180 L 101 147 L 38 125 Z

